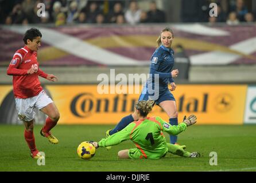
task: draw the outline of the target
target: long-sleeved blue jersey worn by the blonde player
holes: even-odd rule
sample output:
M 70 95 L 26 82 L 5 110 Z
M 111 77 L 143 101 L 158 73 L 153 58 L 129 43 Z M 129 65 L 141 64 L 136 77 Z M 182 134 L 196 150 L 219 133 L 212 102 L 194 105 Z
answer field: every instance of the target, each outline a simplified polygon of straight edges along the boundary
M 154 74 L 158 74 L 159 92 L 161 93 L 168 90 L 168 82 L 174 82 L 172 74 L 170 73 L 173 65 L 174 51 L 163 45 L 158 47 L 151 57 L 149 74 L 152 74 L 152 78 L 148 79 L 148 85 L 152 83 L 152 88 L 154 89 L 155 84 L 157 84 L 155 83 Z M 149 87 L 148 85 L 146 86 Z

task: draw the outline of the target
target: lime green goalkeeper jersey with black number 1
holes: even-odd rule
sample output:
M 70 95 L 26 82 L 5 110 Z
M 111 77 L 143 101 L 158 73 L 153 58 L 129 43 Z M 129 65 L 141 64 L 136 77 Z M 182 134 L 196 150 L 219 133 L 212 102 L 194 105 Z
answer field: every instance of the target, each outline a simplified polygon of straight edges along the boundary
M 167 151 L 163 132 L 177 135 L 186 128 L 187 124 L 184 122 L 177 126 L 172 126 L 160 117 L 148 117 L 131 122 L 120 132 L 108 138 L 103 138 L 99 141 L 99 146 L 113 146 L 130 139 L 145 158 L 160 158 Z

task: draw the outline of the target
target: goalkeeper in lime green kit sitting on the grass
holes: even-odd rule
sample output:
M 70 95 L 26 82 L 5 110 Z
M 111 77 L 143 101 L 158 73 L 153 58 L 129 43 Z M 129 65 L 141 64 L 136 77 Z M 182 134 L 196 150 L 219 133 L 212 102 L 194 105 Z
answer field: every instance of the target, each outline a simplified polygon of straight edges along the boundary
M 166 153 L 172 153 L 183 157 L 200 157 L 197 152 L 189 153 L 185 146 L 166 143 L 163 132 L 176 136 L 184 132 L 189 125 L 196 123 L 196 116 L 191 115 L 184 118 L 179 125 L 170 125 L 160 117 L 147 117 L 153 108 L 154 101 L 139 101 L 135 105 L 135 113 L 138 121 L 131 122 L 121 131 L 103 138 L 99 142 L 91 141 L 95 148 L 113 146 L 123 141 L 131 140 L 137 148 L 125 149 L 118 152 L 119 158 L 148 158 L 158 159 L 164 157 Z

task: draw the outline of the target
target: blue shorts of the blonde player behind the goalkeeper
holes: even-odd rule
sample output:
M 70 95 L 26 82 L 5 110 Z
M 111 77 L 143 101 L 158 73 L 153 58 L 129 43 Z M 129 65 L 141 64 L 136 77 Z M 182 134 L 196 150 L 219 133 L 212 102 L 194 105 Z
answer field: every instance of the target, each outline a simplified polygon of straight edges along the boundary
M 144 89 L 143 89 L 144 90 Z M 152 96 L 148 92 L 141 93 L 138 101 L 148 101 L 149 97 Z M 154 100 L 157 105 L 159 105 L 162 101 L 175 101 L 173 94 L 170 93 L 169 90 L 165 90 L 164 92 L 160 92 L 157 100 Z

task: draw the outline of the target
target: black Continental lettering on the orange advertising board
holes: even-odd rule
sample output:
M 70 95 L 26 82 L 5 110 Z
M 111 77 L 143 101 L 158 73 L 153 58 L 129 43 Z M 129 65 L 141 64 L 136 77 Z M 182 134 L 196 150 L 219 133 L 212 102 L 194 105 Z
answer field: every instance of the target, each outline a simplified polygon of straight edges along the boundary
M 137 97 L 137 96 L 136 96 Z M 80 93 L 71 102 L 70 109 L 74 116 L 86 118 L 94 113 L 132 113 L 138 98 L 127 94 L 117 94 L 114 97 L 95 98 L 91 93 Z M 208 94 L 199 98 L 186 97 L 185 94 L 176 98 L 179 112 L 207 113 Z M 162 113 L 165 113 L 161 110 Z

